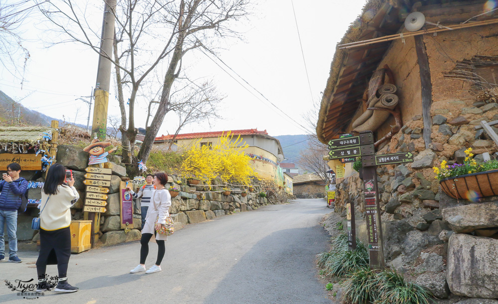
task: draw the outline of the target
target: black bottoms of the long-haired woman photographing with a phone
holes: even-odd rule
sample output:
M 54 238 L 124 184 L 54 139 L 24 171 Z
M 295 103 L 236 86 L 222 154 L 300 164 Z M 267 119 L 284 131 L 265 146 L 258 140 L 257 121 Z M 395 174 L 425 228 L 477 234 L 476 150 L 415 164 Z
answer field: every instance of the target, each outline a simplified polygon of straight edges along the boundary
M 45 278 L 47 265 L 54 264 L 57 264 L 59 278 L 66 278 L 70 256 L 71 230 L 69 227 L 52 231 L 40 229 L 40 253 L 36 261 L 39 279 Z

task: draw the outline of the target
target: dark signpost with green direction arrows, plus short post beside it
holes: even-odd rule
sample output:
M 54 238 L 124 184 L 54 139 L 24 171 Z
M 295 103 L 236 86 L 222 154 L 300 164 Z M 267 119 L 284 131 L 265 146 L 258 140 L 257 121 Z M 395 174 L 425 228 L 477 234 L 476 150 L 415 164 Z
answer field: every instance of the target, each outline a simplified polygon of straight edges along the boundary
M 348 135 L 348 136 L 345 136 Z M 380 204 L 378 200 L 377 166 L 404 164 L 413 162 L 410 152 L 374 155 L 373 132 L 364 131 L 359 136 L 343 134 L 341 138 L 329 141 L 329 155 L 324 160 L 340 159 L 341 163 L 354 162 L 357 156 L 362 157 L 363 184 L 365 194 L 365 209 L 367 232 L 369 240 L 370 267 L 384 268 L 385 260 L 382 249 L 382 226 L 380 222 Z M 337 168 L 336 168 L 337 170 Z M 348 220 L 349 249 L 356 248 L 355 206 L 352 202 L 346 204 Z

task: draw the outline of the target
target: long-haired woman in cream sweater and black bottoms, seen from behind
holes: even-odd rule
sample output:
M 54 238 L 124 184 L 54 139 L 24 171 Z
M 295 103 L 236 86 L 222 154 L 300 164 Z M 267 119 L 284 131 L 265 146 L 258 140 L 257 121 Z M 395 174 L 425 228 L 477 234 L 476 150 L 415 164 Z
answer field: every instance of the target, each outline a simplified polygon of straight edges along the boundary
M 66 185 L 66 169 L 61 164 L 52 165 L 47 172 L 40 200 L 40 253 L 36 261 L 38 273 L 37 292 L 50 290 L 47 284 L 47 264 L 57 264 L 59 282 L 54 291 L 74 293 L 77 287 L 67 282 L 67 266 L 71 256 L 71 206 L 80 196 L 74 188 L 74 179 Z

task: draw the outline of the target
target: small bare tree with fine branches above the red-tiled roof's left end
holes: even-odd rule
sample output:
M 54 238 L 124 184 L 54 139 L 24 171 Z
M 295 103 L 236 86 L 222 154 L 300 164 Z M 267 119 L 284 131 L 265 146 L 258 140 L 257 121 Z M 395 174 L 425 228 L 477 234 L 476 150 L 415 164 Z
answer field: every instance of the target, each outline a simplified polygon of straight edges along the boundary
M 201 86 L 191 83 L 187 88 L 180 88 L 171 94 L 170 108 L 179 118 L 179 124 L 171 139 L 168 150 L 171 150 L 180 130 L 193 122 L 219 118 L 217 105 L 225 97 L 219 96 L 212 82 L 204 82 Z

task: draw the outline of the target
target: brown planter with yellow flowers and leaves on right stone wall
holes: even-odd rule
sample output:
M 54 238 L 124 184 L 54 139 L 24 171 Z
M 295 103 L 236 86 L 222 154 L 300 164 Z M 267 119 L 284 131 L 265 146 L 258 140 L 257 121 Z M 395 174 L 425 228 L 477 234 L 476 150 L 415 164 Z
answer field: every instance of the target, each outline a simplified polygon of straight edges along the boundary
M 447 165 L 442 161 L 440 167 L 433 168 L 441 190 L 454 199 L 498 195 L 498 161 L 478 164 L 473 158 L 472 148 L 464 152 L 467 157 L 463 164 Z

